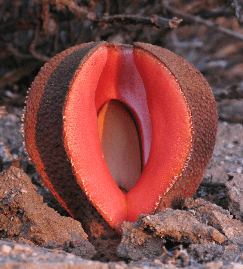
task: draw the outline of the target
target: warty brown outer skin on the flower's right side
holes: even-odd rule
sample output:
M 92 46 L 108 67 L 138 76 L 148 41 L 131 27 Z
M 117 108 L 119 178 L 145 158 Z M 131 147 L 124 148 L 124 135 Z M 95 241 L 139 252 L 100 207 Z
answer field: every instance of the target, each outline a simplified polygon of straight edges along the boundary
M 152 53 L 168 67 L 190 108 L 194 132 L 191 159 L 173 188 L 162 197 L 156 212 L 165 207 L 178 208 L 183 197 L 193 197 L 212 157 L 218 125 L 216 102 L 204 76 L 185 59 L 151 44 L 136 42 L 133 45 Z

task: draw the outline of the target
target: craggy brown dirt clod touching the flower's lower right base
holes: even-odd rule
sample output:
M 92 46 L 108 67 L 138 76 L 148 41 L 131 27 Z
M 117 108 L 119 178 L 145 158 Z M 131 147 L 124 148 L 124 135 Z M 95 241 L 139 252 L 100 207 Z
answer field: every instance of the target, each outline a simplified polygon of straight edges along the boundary
M 183 244 L 207 240 L 221 244 L 226 237 L 201 223 L 192 212 L 168 208 L 156 215 L 141 215 L 136 223 L 125 223 L 117 254 L 132 260 L 141 257 L 152 259 L 163 253 L 162 246 L 167 240 Z

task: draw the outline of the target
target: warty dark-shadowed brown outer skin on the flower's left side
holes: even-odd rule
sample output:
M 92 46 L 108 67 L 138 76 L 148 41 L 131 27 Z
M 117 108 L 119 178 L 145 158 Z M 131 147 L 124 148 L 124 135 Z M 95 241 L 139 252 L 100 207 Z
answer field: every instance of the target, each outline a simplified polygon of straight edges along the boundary
M 77 45 L 53 57 L 36 76 L 26 104 L 26 147 L 37 172 L 59 203 L 82 224 L 99 260 L 112 256 L 120 235 L 89 202 L 72 174 L 63 145 L 63 104 L 78 66 L 106 42 Z M 99 247 L 98 247 L 99 246 Z M 108 251 L 107 251 L 108 249 Z M 110 257 L 108 257 L 108 253 Z

